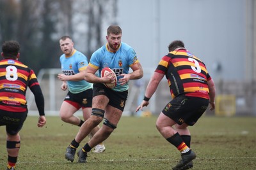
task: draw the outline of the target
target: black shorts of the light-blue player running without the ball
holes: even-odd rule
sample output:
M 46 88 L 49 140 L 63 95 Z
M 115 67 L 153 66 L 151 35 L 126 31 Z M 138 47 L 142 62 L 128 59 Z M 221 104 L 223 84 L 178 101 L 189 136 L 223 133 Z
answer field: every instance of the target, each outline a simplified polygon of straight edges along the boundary
M 77 110 L 81 107 L 92 108 L 92 89 L 84 90 L 77 94 L 68 91 L 64 101 L 72 104 Z

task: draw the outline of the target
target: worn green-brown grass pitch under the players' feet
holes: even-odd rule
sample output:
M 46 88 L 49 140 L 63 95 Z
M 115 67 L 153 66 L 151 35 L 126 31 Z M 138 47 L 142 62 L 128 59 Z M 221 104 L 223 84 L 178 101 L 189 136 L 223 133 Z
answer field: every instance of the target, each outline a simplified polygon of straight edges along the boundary
M 79 127 L 59 117 L 28 117 L 22 131 L 17 169 L 172 169 L 180 153 L 156 129 L 157 117 L 122 117 L 104 141 L 106 152 L 88 153 L 86 164 L 65 160 L 65 150 Z M 197 157 L 193 169 L 256 169 L 256 117 L 200 118 L 191 131 L 191 148 Z M 5 128 L 0 127 L 0 169 L 6 168 Z M 81 143 L 83 146 L 88 138 Z M 79 146 L 79 148 L 81 147 Z

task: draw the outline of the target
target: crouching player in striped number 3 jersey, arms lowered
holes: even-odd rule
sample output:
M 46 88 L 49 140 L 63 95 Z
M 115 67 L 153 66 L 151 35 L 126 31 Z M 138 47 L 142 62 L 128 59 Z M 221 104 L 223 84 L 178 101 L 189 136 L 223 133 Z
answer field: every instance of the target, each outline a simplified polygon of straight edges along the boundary
M 150 97 L 164 76 L 168 80 L 172 101 L 163 108 L 156 127 L 162 136 L 181 153 L 180 162 L 173 170 L 193 167 L 196 154 L 190 148 L 191 134 L 188 126 L 194 125 L 207 106 L 214 110 L 215 86 L 205 64 L 186 50 L 182 41 L 173 41 L 147 85 L 144 100 L 136 109 L 148 106 Z

